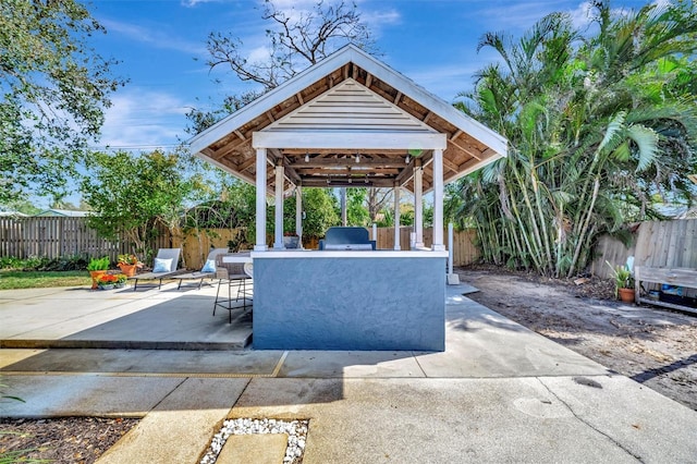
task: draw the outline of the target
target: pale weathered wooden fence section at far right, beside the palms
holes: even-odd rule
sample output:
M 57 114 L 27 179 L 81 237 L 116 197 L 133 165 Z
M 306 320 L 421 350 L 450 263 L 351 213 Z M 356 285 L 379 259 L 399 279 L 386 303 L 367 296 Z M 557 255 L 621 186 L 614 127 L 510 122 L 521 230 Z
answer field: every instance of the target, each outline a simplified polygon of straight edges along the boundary
M 601 237 L 591 273 L 610 277 L 606 261 L 623 265 L 628 256 L 634 256 L 635 266 L 697 269 L 697 219 L 641 222 L 633 235 L 628 248 L 615 239 Z

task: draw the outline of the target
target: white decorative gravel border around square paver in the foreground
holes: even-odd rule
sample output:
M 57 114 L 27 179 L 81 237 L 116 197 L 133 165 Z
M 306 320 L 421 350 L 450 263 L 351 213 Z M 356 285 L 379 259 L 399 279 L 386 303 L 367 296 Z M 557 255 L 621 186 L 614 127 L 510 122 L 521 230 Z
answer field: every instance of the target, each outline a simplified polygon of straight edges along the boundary
M 222 424 L 218 434 L 213 435 L 208 452 L 200 460 L 200 464 L 212 464 L 218 460 L 218 454 L 223 444 L 232 435 L 252 434 L 286 434 L 288 447 L 283 464 L 295 464 L 303 461 L 305 440 L 309 420 L 280 420 L 280 419 L 228 419 Z

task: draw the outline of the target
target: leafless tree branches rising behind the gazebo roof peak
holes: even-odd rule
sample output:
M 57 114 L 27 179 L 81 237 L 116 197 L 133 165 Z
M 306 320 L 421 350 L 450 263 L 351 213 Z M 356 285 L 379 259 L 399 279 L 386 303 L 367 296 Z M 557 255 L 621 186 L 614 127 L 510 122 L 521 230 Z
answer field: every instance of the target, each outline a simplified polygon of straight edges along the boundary
M 240 80 L 261 84 L 268 91 L 348 42 L 374 51 L 370 32 L 354 2 L 318 0 L 311 10 L 283 11 L 266 0 L 262 19 L 271 24 L 266 30 L 268 60 L 249 62 L 239 37 L 211 33 L 208 65 L 229 65 Z

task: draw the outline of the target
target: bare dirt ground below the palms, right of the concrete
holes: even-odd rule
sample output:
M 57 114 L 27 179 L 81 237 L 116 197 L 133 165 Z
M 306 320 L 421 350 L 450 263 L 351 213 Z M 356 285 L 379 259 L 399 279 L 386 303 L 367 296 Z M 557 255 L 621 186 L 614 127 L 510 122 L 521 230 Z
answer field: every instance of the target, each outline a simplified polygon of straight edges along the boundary
M 697 315 L 614 300 L 610 280 L 461 268 L 467 297 L 697 411 Z

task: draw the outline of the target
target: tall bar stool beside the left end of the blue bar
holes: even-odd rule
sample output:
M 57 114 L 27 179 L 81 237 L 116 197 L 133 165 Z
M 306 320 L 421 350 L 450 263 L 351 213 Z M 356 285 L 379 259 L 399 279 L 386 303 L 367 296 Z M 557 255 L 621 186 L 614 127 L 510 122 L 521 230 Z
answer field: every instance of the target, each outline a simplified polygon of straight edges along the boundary
M 228 258 L 228 259 L 225 259 Z M 252 301 L 249 292 L 252 289 L 247 289 L 247 281 L 252 280 L 252 276 L 245 272 L 245 265 L 249 270 L 249 253 L 230 253 L 216 256 L 216 278 L 218 279 L 218 292 L 216 293 L 216 302 L 213 304 L 213 316 L 216 309 L 221 307 L 228 309 L 229 321 L 232 323 L 232 312 L 247 309 L 247 301 Z M 223 284 L 228 284 L 228 298 L 220 297 L 220 288 Z M 233 297 L 233 286 L 235 286 L 235 296 Z M 242 306 L 233 306 L 233 302 L 237 303 L 242 300 Z M 250 306 L 250 305 L 249 305 Z

